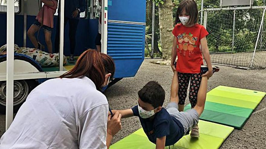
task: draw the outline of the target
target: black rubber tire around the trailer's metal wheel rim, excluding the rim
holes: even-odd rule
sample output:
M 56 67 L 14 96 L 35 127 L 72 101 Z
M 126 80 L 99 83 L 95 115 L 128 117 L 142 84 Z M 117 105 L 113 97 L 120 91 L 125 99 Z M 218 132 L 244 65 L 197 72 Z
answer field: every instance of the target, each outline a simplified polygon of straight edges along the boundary
M 28 79 L 28 80 L 14 80 L 14 84 L 16 83 L 15 81 L 20 81 L 23 83 L 26 83 L 27 85 L 25 85 L 26 87 L 28 87 L 28 92 L 24 95 L 24 98 L 21 99 L 21 101 L 13 106 L 13 112 L 17 113 L 19 108 L 21 107 L 21 105 L 26 101 L 26 98 L 28 97 L 28 95 L 30 94 L 30 92 L 38 85 L 38 82 L 34 79 Z M 0 82 L 0 87 L 2 83 L 5 83 L 6 81 L 1 81 Z M 1 93 L 1 91 L 0 91 Z M 14 92 L 14 96 L 15 96 L 15 92 Z M 15 104 L 15 103 L 14 103 Z M 5 114 L 6 113 L 6 106 L 0 104 L 0 113 Z

